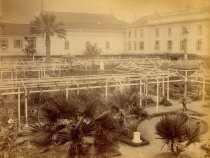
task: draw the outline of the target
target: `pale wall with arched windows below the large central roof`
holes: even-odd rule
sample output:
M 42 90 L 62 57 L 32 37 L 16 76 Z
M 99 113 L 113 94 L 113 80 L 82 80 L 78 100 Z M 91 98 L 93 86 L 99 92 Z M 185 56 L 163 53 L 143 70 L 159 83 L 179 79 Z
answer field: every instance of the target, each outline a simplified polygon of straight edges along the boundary
M 65 40 L 58 37 L 51 38 L 52 55 L 81 55 L 86 48 L 86 42 L 96 44 L 102 50 L 103 55 L 119 54 L 124 50 L 124 37 L 122 32 L 96 32 L 68 30 L 66 40 L 69 41 L 69 50 L 65 50 Z M 109 41 L 110 49 L 106 50 L 106 42 Z

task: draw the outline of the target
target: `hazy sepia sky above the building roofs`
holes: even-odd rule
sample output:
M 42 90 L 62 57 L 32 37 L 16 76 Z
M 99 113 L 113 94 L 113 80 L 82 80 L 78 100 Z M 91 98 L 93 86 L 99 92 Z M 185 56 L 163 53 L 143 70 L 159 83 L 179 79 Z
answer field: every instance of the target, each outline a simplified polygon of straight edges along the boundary
M 112 14 L 119 20 L 132 22 L 154 14 L 183 10 L 186 7 L 202 8 L 210 0 L 43 0 L 45 11 Z M 1 21 L 29 23 L 41 11 L 42 0 L 0 0 Z

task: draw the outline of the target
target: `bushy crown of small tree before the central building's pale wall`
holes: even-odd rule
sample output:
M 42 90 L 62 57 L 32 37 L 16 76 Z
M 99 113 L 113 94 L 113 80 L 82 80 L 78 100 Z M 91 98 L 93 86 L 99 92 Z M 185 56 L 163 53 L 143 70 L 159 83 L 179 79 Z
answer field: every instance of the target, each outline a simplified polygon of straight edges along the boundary
M 85 51 L 83 52 L 84 56 L 92 59 L 94 57 L 98 57 L 101 54 L 101 49 L 99 49 L 96 45 L 88 45 L 86 46 Z

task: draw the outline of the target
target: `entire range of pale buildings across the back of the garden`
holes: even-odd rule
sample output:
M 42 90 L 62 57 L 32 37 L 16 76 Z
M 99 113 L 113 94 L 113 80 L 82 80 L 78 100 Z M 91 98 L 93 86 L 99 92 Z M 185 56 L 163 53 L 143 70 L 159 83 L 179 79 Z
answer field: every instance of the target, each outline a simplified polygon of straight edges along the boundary
M 156 13 L 133 23 L 110 14 L 48 12 L 64 23 L 66 39 L 51 37 L 51 55 L 82 55 L 89 44 L 102 55 L 188 53 L 210 55 L 210 12 L 190 9 Z M 31 35 L 29 24 L 0 23 L 0 56 L 24 55 L 33 37 L 37 56 L 45 55 L 43 35 Z

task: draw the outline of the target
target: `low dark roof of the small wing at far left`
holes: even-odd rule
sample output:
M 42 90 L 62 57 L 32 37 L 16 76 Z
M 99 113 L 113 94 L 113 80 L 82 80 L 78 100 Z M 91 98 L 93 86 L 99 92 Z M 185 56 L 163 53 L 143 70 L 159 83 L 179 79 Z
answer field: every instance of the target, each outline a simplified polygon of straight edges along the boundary
M 0 34 L 29 34 L 29 24 L 0 23 Z

